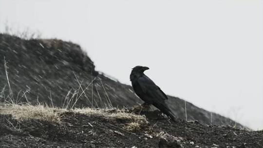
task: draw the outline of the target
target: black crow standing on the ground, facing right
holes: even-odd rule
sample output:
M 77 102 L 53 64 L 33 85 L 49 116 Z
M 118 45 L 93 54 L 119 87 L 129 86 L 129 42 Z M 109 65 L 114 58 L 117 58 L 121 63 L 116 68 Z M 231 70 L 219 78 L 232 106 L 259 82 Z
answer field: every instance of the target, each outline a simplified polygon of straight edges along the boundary
M 149 68 L 143 66 L 132 68 L 130 80 L 134 92 L 145 102 L 143 106 L 152 104 L 175 121 L 175 115 L 165 102 L 168 99 L 167 95 L 143 73 L 146 70 Z

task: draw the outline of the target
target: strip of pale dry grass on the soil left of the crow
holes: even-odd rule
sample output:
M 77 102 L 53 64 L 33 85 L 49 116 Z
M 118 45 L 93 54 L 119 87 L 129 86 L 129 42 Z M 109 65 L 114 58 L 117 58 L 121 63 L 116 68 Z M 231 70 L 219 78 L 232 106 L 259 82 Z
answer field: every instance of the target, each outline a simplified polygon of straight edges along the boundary
M 19 121 L 26 121 L 31 119 L 44 120 L 49 122 L 61 122 L 63 113 L 74 112 L 82 113 L 88 116 L 99 116 L 108 121 L 125 121 L 123 129 L 127 131 L 139 131 L 148 125 L 145 116 L 137 115 L 134 113 L 126 112 L 125 110 L 118 109 L 59 109 L 38 104 L 36 106 L 30 104 L 0 104 L 0 114 L 11 114 Z

